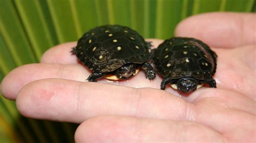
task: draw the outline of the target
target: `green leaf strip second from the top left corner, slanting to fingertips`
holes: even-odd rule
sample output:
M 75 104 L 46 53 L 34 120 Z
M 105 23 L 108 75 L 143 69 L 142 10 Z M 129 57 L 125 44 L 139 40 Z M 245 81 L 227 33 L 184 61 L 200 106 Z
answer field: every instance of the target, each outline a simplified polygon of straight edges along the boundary
M 45 1 L 15 0 L 29 41 L 39 60 L 46 49 L 57 44 L 57 38 Z

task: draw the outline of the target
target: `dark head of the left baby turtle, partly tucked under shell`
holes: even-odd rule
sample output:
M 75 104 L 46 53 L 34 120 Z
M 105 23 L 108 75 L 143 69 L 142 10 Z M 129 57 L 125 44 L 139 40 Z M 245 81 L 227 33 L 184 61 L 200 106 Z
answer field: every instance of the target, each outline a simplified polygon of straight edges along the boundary
M 127 63 L 116 71 L 116 76 L 120 79 L 127 79 L 136 73 L 136 65 L 134 63 Z

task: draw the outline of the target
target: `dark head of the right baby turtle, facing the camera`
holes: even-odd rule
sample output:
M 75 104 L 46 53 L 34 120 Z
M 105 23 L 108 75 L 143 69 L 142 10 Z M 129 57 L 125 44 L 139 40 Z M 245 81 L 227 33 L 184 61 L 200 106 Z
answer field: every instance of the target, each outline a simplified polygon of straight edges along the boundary
M 185 93 L 192 92 L 197 89 L 198 82 L 194 78 L 184 77 L 177 81 L 177 88 Z

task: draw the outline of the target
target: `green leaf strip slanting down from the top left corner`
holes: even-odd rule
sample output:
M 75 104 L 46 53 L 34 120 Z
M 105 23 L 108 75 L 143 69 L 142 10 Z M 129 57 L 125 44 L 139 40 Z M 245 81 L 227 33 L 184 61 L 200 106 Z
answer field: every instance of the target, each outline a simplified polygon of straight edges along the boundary
M 36 62 L 23 25 L 12 1 L 0 1 L 0 33 L 17 66 Z

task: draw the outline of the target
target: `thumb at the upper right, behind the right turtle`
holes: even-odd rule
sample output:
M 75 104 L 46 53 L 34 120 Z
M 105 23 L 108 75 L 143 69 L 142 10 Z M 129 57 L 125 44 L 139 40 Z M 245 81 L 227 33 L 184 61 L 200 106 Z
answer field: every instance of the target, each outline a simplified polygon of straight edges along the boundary
M 256 43 L 255 23 L 255 13 L 205 13 L 183 20 L 175 35 L 198 38 L 212 47 L 234 48 Z

